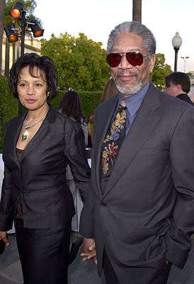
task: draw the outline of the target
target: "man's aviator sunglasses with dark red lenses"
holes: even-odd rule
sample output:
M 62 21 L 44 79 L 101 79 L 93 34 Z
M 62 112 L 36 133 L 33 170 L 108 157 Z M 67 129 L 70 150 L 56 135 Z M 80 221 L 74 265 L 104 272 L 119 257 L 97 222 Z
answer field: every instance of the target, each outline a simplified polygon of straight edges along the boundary
M 120 61 L 122 60 L 122 56 L 126 55 L 127 61 L 133 66 L 142 65 L 144 61 L 144 57 L 148 55 L 142 55 L 142 53 L 137 52 L 130 52 L 130 53 L 110 53 L 106 57 L 106 61 L 110 67 L 117 67 L 120 65 Z

